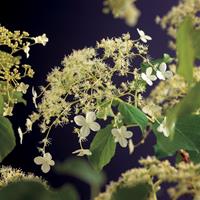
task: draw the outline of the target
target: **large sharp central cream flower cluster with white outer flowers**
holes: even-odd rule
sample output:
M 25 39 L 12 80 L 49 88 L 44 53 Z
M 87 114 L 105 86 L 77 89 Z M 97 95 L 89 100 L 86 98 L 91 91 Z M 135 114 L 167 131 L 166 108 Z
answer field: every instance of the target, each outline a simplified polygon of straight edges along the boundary
M 30 131 L 33 123 L 40 121 L 39 126 L 41 132 L 45 133 L 45 138 L 38 149 L 43 157 L 46 155 L 52 127 L 71 121 L 78 126 L 74 132 L 81 147 L 73 153 L 78 156 L 91 155 L 82 146 L 82 142 L 87 140 L 91 131 L 100 130 L 101 127 L 96 122 L 98 118 L 117 118 L 111 109 L 113 101 L 122 99 L 137 106 L 142 102 L 146 84 L 152 85 L 155 80 L 152 77 L 161 80 L 171 78 L 172 73 L 166 70 L 164 62 L 158 65 L 149 60 L 148 46 L 144 43 L 152 38 L 140 29 L 137 31 L 137 40 L 131 40 L 127 33 L 119 38 L 102 39 L 95 48 L 73 51 L 64 58 L 62 67 L 55 67 L 47 76 L 47 86 L 41 87 L 40 94 L 32 89 L 37 111 L 29 116 L 26 127 Z M 140 66 L 135 66 L 135 59 L 148 65 L 146 73 L 142 72 Z M 71 119 L 73 114 L 76 115 L 74 120 Z M 114 127 L 112 134 L 115 142 L 122 147 L 128 146 L 132 152 L 132 140 L 127 140 L 132 137 L 132 133 L 123 125 Z

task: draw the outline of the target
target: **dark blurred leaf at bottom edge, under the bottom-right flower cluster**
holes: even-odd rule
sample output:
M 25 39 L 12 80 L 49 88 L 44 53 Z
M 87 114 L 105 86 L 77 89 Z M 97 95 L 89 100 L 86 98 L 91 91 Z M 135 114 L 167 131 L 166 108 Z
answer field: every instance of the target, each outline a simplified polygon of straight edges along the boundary
M 117 191 L 112 194 L 111 200 L 147 200 L 152 187 L 147 183 L 140 183 L 135 186 L 118 187 Z

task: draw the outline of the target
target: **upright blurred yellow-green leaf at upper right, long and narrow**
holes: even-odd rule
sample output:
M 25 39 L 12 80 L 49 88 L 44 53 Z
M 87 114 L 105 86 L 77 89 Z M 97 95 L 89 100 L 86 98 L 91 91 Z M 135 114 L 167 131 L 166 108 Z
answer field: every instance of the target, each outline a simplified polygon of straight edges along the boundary
M 192 19 L 186 17 L 180 24 L 177 32 L 176 49 L 178 56 L 178 74 L 183 76 L 188 82 L 193 80 L 193 67 L 195 51 L 192 42 L 193 25 Z

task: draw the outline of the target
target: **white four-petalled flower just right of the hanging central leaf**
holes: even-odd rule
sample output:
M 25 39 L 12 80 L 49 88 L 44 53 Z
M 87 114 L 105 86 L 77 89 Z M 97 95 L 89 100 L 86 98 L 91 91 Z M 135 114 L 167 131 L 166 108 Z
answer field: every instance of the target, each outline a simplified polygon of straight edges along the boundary
M 127 139 L 131 138 L 133 135 L 131 131 L 127 131 L 127 128 L 125 126 L 122 126 L 120 128 L 113 128 L 111 132 L 115 137 L 115 142 L 119 142 L 121 147 L 127 147 Z

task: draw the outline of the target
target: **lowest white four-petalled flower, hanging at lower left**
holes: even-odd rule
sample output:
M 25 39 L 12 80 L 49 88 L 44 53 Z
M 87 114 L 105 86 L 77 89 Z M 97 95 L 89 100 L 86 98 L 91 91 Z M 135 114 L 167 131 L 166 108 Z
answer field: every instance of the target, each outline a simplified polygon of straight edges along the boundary
M 50 153 L 45 153 L 43 156 L 38 156 L 34 158 L 34 162 L 37 165 L 42 165 L 41 170 L 44 173 L 49 172 L 50 166 L 54 166 L 55 162 L 52 160 L 52 156 Z

